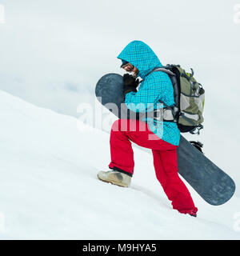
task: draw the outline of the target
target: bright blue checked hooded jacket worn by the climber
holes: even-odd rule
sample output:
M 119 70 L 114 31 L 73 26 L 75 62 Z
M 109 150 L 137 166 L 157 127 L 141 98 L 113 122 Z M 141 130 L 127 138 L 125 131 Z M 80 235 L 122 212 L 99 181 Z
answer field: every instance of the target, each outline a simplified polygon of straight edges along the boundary
M 155 67 L 161 67 L 162 63 L 159 61 L 154 51 L 150 46 L 142 41 L 130 42 L 118 55 L 122 63 L 130 62 L 138 68 L 139 74 L 143 79 L 138 92 L 130 92 L 126 94 L 126 106 L 135 112 L 151 111 L 159 108 L 159 100 L 165 102 L 166 105 L 172 106 L 174 102 L 174 89 L 169 76 L 161 71 L 156 71 L 151 74 L 150 71 Z M 149 74 L 149 75 L 147 75 Z M 141 103 L 141 104 L 139 104 Z M 149 108 L 148 104 L 152 106 Z M 140 107 L 139 107 L 140 106 Z M 141 109 L 142 106 L 142 109 Z M 172 145 L 178 146 L 180 141 L 180 131 L 174 122 L 160 122 L 154 121 L 154 118 L 145 118 L 142 121 L 147 122 L 150 130 L 162 138 L 162 140 L 169 142 Z

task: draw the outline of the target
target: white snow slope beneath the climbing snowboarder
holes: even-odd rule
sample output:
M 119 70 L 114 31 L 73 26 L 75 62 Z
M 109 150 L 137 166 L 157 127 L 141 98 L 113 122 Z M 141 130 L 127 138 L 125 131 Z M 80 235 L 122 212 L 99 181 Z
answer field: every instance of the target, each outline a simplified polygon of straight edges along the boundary
M 240 238 L 239 198 L 210 206 L 189 186 L 198 218 L 178 214 L 150 154 L 134 147 L 130 188 L 113 186 L 96 176 L 110 161 L 109 134 L 2 91 L 0 109 L 0 238 Z

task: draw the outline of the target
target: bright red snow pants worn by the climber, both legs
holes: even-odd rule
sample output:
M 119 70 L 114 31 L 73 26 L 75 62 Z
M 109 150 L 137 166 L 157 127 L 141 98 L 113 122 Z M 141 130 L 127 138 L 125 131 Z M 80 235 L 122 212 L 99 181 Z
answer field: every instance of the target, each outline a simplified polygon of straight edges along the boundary
M 190 192 L 178 176 L 177 146 L 158 138 L 146 122 L 118 119 L 110 134 L 110 169 L 134 174 L 134 151 L 131 142 L 152 150 L 154 169 L 167 198 L 182 214 L 196 214 Z

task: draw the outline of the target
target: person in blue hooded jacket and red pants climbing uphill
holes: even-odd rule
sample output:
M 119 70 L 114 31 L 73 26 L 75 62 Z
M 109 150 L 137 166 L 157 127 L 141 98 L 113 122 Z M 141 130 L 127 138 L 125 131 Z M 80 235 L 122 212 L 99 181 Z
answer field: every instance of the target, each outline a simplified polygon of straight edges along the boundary
M 147 104 L 157 109 L 159 100 L 168 106 L 175 104 L 169 76 L 161 71 L 150 73 L 154 68 L 162 67 L 150 46 L 141 41 L 130 42 L 118 58 L 122 60 L 121 67 L 130 73 L 123 76 L 125 104 L 130 110 L 140 113 L 150 111 Z M 137 77 L 142 78 L 140 86 Z M 110 133 L 110 170 L 100 171 L 98 178 L 114 185 L 130 186 L 134 174 L 131 142 L 134 142 L 152 150 L 156 177 L 173 209 L 182 214 L 197 216 L 198 208 L 194 206 L 189 190 L 178 176 L 179 141 L 180 131 L 175 122 L 146 117 L 137 120 L 118 119 L 113 123 Z

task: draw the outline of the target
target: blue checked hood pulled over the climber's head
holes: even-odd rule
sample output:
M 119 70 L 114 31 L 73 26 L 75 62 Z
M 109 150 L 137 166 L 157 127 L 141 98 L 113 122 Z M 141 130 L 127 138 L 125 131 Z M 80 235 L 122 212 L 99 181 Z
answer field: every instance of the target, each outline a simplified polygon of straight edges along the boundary
M 136 66 L 139 70 L 138 76 L 141 78 L 145 78 L 146 74 L 155 67 L 162 66 L 154 51 L 142 41 L 130 42 L 118 55 L 118 58 L 122 60 L 122 63 L 130 62 Z

